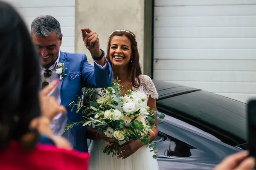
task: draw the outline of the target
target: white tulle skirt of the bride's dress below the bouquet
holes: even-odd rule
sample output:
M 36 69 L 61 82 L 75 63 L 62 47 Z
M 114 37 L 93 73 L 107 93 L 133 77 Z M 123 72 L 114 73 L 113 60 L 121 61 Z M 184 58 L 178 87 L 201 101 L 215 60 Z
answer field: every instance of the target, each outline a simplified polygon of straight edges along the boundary
M 95 140 L 91 143 L 90 167 L 89 170 L 159 170 L 157 159 L 154 159 L 153 152 L 143 146 L 137 152 L 126 159 L 117 159 L 112 154 L 102 153 L 107 142 Z

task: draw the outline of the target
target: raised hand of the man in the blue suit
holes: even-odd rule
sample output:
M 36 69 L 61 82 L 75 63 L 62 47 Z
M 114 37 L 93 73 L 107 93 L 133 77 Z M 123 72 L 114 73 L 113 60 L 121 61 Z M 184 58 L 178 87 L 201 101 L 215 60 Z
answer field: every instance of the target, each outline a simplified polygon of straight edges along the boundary
M 93 57 L 100 57 L 102 52 L 99 49 L 99 37 L 96 32 L 89 28 L 81 28 L 84 45 Z

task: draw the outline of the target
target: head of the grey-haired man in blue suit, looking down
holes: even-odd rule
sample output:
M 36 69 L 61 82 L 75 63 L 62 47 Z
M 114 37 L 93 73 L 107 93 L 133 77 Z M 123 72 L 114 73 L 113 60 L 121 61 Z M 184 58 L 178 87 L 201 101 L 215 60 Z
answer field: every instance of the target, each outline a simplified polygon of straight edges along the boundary
M 60 23 L 51 15 L 38 16 L 31 24 L 31 36 L 41 65 L 49 68 L 57 60 L 62 42 Z

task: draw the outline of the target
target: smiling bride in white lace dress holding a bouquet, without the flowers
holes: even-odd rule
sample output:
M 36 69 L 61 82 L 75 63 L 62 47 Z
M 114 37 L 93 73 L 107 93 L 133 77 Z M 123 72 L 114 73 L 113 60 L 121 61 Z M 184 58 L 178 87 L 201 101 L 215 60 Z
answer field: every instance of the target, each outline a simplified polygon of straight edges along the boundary
M 114 79 L 127 90 L 135 89 L 144 94 L 147 105 L 156 110 L 158 94 L 151 78 L 141 73 L 137 39 L 131 31 L 116 30 L 108 40 L 107 59 L 111 63 Z M 122 94 L 124 95 L 124 94 Z M 153 122 L 150 141 L 157 136 L 157 119 Z M 102 149 L 109 142 L 94 140 L 90 145 L 89 170 L 158 170 L 157 159 L 152 158 L 153 152 L 137 141 L 128 141 L 121 145 L 119 156 L 106 155 Z

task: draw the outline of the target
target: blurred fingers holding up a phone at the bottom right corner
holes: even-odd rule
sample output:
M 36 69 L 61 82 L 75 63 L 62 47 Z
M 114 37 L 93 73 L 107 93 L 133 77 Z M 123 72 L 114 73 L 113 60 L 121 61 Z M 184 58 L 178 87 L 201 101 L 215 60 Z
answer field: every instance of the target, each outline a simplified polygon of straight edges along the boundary
M 248 152 L 235 153 L 225 158 L 214 170 L 253 170 L 255 160 L 248 158 Z

